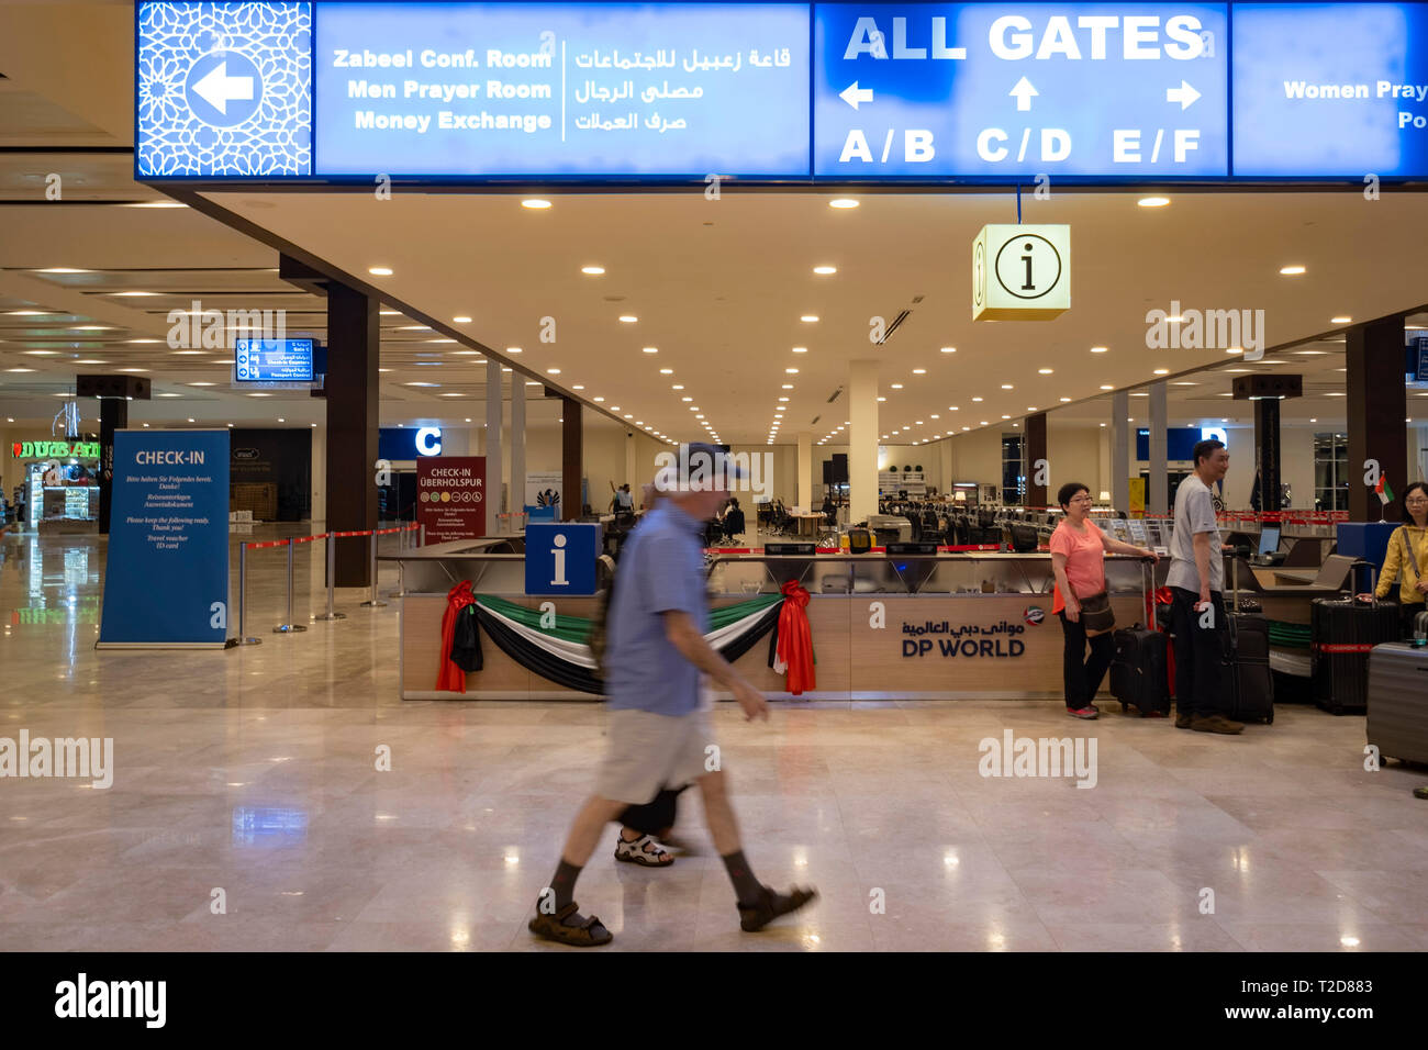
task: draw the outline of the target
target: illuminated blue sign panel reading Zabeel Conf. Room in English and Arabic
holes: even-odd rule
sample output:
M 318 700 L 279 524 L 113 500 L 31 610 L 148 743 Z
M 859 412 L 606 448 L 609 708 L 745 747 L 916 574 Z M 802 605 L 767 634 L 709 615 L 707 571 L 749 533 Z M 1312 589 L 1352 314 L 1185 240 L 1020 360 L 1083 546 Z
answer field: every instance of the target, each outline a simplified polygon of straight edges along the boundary
M 803 4 L 326 3 L 316 70 L 324 174 L 808 171 Z

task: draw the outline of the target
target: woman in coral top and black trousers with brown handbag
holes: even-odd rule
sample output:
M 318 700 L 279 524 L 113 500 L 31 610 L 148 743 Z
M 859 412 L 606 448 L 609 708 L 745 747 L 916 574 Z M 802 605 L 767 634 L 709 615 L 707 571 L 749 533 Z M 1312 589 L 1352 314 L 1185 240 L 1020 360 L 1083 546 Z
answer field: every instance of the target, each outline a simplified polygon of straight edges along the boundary
M 1068 481 L 1057 493 L 1065 511 L 1051 533 L 1051 570 L 1057 577 L 1051 611 L 1061 617 L 1065 654 L 1061 676 L 1065 683 L 1067 714 L 1095 719 L 1101 714 L 1092 703 L 1101 689 L 1111 659 L 1115 656 L 1115 613 L 1105 590 L 1105 556 L 1135 554 L 1155 560 L 1145 547 L 1112 540 L 1095 521 L 1087 520 L 1091 490 Z M 1085 653 L 1091 646 L 1090 657 Z

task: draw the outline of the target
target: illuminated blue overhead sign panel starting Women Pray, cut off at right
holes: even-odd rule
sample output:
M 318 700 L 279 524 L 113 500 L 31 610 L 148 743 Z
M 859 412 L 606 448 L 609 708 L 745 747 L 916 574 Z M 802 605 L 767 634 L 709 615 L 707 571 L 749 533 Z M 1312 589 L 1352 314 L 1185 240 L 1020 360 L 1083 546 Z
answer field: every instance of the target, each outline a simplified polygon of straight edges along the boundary
M 1235 174 L 1428 173 L 1428 4 L 1234 7 Z

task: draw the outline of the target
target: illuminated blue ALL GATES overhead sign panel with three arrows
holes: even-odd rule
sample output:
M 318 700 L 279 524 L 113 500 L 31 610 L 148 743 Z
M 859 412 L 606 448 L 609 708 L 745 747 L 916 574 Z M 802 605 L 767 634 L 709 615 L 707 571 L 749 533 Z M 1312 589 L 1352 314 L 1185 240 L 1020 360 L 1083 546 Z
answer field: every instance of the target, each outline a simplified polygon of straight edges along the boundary
M 814 174 L 1225 177 L 1224 43 L 1224 4 L 817 4 Z

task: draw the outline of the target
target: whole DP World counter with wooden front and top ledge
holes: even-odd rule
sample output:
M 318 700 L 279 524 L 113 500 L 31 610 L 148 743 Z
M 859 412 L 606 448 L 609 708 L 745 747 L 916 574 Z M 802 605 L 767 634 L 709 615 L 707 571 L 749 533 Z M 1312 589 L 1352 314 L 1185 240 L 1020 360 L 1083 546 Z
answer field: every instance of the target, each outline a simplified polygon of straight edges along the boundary
M 403 566 L 401 696 L 407 700 L 595 700 L 521 666 L 483 639 L 484 666 L 467 691 L 434 689 L 441 660 L 447 590 L 471 580 L 477 594 L 560 616 L 591 617 L 595 599 L 524 594 L 524 559 L 463 544 L 390 556 Z M 1164 571 L 1164 563 L 1161 573 Z M 1117 623 L 1145 620 L 1138 559 L 1108 557 L 1107 584 Z M 804 700 L 1021 700 L 1062 696 L 1061 624 L 1051 614 L 1050 554 L 940 553 L 720 554 L 708 567 L 718 609 L 774 596 L 790 580 L 810 591 L 807 609 L 817 687 L 791 697 L 768 666 L 768 644 L 737 667 L 777 699 Z

